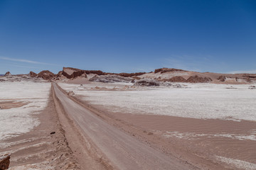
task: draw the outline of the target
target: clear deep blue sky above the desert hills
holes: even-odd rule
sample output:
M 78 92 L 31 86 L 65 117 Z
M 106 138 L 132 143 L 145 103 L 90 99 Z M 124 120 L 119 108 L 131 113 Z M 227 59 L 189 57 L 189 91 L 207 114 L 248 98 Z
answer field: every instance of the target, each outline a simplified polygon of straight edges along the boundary
M 0 73 L 256 73 L 256 1 L 0 0 Z

